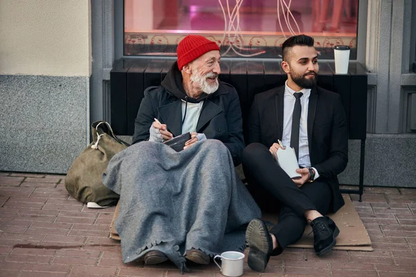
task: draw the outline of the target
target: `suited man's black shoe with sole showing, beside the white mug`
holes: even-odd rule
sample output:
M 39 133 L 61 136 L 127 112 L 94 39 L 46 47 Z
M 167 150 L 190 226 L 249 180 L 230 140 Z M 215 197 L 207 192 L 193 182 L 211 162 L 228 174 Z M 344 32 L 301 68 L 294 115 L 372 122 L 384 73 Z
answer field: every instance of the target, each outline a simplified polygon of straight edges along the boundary
M 263 272 L 273 250 L 273 241 L 266 224 L 255 218 L 250 221 L 245 231 L 245 240 L 250 250 L 248 252 L 248 266 L 254 271 Z

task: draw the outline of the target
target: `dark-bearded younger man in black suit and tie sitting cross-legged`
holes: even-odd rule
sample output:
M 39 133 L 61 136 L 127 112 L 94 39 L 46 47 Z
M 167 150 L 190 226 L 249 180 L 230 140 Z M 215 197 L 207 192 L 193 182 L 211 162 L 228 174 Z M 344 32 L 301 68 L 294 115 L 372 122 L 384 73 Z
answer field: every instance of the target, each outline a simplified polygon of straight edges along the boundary
M 290 37 L 282 45 L 283 87 L 254 97 L 248 118 L 248 145 L 243 166 L 249 189 L 263 210 L 279 222 L 270 233 L 259 219 L 250 222 L 246 240 L 248 265 L 264 271 L 270 256 L 302 237 L 311 224 L 318 256 L 331 251 L 339 229 L 325 214 L 344 205 L 337 175 L 347 166 L 347 120 L 340 96 L 316 86 L 318 53 L 313 38 Z M 291 179 L 275 161 L 284 147 L 295 150 L 299 179 Z

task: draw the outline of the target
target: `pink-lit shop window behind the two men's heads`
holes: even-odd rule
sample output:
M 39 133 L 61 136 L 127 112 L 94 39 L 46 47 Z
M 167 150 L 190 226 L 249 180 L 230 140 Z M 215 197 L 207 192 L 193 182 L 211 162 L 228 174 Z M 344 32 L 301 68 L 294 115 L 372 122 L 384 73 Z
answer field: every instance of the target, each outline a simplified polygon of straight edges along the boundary
M 356 60 L 358 0 L 124 0 L 124 55 L 175 56 L 188 34 L 216 42 L 225 57 L 281 57 L 285 37 L 315 39 L 321 59 L 333 46 Z

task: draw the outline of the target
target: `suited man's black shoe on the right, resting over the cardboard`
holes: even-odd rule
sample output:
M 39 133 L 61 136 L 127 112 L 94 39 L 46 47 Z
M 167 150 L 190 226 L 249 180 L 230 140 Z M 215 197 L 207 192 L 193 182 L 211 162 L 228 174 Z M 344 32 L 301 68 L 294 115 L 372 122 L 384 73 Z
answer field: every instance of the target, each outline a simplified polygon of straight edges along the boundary
M 315 218 L 311 222 L 313 231 L 313 249 L 316 255 L 328 253 L 336 244 L 335 238 L 340 234 L 340 229 L 331 218 L 324 216 Z

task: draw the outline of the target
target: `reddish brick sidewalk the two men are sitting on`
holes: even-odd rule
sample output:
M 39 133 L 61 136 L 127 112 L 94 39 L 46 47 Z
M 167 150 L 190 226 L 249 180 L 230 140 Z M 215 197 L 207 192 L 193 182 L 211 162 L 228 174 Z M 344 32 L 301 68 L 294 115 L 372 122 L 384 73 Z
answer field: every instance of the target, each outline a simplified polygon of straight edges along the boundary
M 351 195 L 372 252 L 286 249 L 267 276 L 416 276 L 416 189 L 365 188 Z M 0 276 L 181 276 L 175 265 L 125 265 L 108 238 L 114 208 L 91 210 L 69 197 L 63 175 L 0 172 Z M 191 265 L 189 276 L 221 276 Z M 187 274 L 185 274 L 187 275 Z M 245 276 L 259 276 L 245 265 Z

